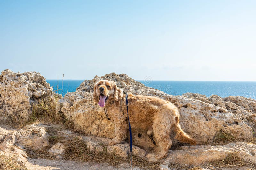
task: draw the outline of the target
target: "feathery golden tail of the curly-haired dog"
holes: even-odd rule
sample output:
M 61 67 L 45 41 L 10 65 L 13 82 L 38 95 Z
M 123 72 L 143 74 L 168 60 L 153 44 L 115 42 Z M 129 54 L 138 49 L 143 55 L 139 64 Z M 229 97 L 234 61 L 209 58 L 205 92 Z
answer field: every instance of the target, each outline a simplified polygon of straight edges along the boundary
M 179 122 L 176 123 L 176 127 L 174 128 L 174 131 L 177 132 L 175 139 L 179 140 L 180 142 L 186 142 L 190 143 L 191 145 L 196 145 L 196 140 L 192 137 L 190 137 L 187 133 L 185 133 L 181 127 Z

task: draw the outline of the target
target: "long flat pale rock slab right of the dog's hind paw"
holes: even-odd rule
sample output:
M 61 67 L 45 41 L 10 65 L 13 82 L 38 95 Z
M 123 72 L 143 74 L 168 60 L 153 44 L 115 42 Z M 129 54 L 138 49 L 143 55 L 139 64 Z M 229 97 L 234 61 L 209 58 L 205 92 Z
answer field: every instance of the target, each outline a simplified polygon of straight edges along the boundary
M 169 151 L 166 160 L 174 164 L 200 165 L 207 161 L 224 159 L 235 152 L 239 152 L 239 157 L 246 162 L 255 163 L 256 161 L 256 156 L 254 156 L 256 145 L 244 142 L 230 143 L 223 146 L 182 146 L 180 150 Z

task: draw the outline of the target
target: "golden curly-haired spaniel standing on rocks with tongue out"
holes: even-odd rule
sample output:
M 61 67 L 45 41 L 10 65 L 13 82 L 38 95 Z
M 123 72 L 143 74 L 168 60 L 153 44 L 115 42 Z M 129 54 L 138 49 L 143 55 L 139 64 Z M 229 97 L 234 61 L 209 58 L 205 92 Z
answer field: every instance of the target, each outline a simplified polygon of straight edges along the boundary
M 126 139 L 128 128 L 126 99 L 123 90 L 116 83 L 108 80 L 98 81 L 93 88 L 94 102 L 107 109 L 108 117 L 115 124 L 115 138 L 109 145 L 116 145 Z M 167 156 L 172 146 L 171 131 L 176 132 L 175 139 L 196 145 L 194 138 L 186 134 L 179 124 L 179 112 L 173 103 L 153 96 L 128 95 L 128 114 L 133 129 L 148 130 L 154 133 L 158 147 L 157 159 Z

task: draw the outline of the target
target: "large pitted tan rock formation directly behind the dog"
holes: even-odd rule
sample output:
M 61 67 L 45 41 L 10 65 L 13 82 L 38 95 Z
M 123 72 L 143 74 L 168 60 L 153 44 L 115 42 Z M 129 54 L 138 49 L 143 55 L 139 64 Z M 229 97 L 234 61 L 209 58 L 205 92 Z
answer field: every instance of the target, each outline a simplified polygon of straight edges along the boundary
M 62 112 L 68 120 L 74 122 L 75 128 L 85 133 L 100 137 L 113 138 L 114 125 L 108 121 L 104 110 L 93 102 L 93 86 L 100 79 L 115 81 L 117 86 L 135 95 L 158 96 L 169 100 L 178 107 L 180 125 L 185 132 L 194 137 L 198 144 L 211 143 L 221 131 L 238 139 L 253 137 L 253 124 L 246 117 L 255 119 L 255 100 L 241 97 L 221 98 L 212 95 L 184 94 L 172 96 L 157 89 L 149 88 L 133 80 L 126 74 L 106 74 L 85 80 L 76 92 L 67 93 L 59 100 L 56 112 Z M 194 96 L 193 96 L 194 95 Z M 241 106 L 239 106 L 239 105 Z M 248 105 L 248 107 L 246 106 Z M 244 117 L 245 116 L 245 117 Z M 129 136 L 129 135 L 128 135 Z M 145 131 L 133 131 L 133 144 L 147 149 L 153 147 L 153 141 Z

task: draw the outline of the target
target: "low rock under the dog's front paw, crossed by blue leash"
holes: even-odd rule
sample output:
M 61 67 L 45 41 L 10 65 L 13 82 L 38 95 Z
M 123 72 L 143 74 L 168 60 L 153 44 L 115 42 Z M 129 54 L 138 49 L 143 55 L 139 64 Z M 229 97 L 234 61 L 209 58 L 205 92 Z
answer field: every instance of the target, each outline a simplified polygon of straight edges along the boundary
M 116 144 L 116 145 L 109 145 L 107 147 L 107 152 L 108 153 L 115 153 L 115 155 L 127 158 L 128 154 L 130 154 L 130 145 L 128 143 L 121 143 L 121 144 Z M 132 145 L 132 155 L 135 156 L 145 156 L 146 151 L 143 149 L 140 149 L 137 146 Z

